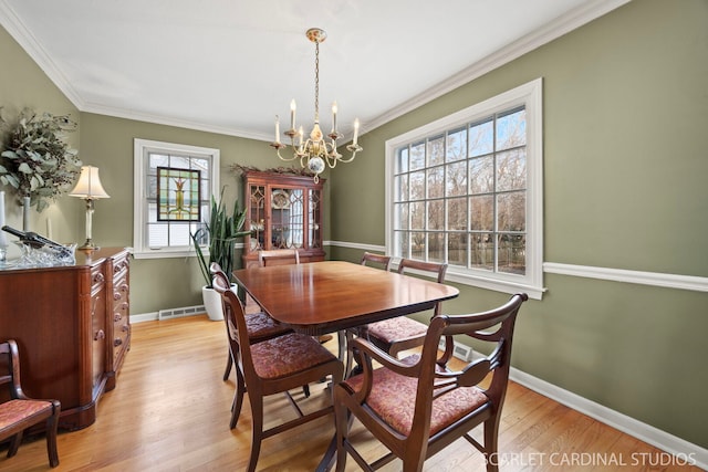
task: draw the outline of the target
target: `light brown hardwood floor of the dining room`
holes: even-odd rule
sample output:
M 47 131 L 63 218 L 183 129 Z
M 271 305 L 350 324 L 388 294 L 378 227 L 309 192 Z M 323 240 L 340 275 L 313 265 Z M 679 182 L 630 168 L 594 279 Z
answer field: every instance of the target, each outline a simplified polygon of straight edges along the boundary
M 327 347 L 335 350 L 336 342 L 329 342 Z M 55 470 L 244 470 L 250 407 L 244 401 L 240 421 L 230 430 L 235 386 L 233 374 L 227 382 L 221 380 L 226 353 L 223 324 L 206 316 L 133 325 L 132 349 L 117 387 L 101 399 L 94 424 L 60 434 L 61 464 Z M 308 401 L 323 401 L 324 385 L 312 390 Z M 284 397 L 271 399 L 267 407 L 270 419 L 291 415 Z M 381 447 L 360 426 L 354 428 L 367 442 L 364 450 L 376 454 Z M 314 470 L 333 432 L 329 416 L 267 439 L 259 470 Z M 500 453 L 502 472 L 699 470 L 652 466 L 662 460 L 660 451 L 516 384 L 510 386 L 503 410 Z M 399 466 L 394 462 L 384 470 Z M 12 459 L 6 459 L 2 451 L 0 470 L 49 470 L 43 437 L 22 444 Z M 346 470 L 358 468 L 350 459 Z M 425 470 L 476 472 L 483 471 L 485 463 L 460 440 L 428 460 Z

